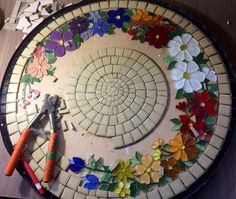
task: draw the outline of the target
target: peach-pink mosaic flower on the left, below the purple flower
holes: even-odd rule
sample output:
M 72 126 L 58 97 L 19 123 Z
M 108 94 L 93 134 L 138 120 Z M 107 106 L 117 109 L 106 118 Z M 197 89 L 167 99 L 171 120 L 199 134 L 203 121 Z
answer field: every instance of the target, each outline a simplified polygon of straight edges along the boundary
M 32 77 L 42 78 L 48 74 L 47 70 L 50 68 L 48 60 L 44 56 L 34 56 L 34 61 L 29 64 L 27 72 Z

